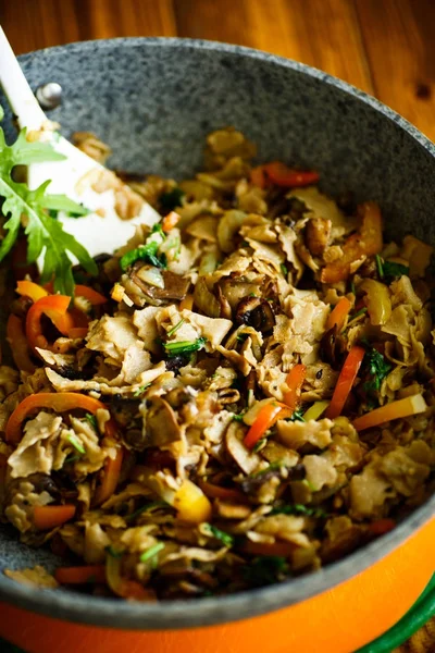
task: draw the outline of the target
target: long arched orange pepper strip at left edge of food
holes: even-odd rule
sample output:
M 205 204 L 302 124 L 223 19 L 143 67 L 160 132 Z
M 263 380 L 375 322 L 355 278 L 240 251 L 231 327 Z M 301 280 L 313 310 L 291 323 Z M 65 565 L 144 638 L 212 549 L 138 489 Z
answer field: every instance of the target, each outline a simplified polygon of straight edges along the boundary
M 29 414 L 37 408 L 51 408 L 57 412 L 82 409 L 95 414 L 99 408 L 105 409 L 107 406 L 94 397 L 77 392 L 40 392 L 29 395 L 17 405 L 8 420 L 5 428 L 7 442 L 17 444 L 21 441 L 22 424 Z M 116 426 L 113 419 L 105 422 L 104 434 L 108 438 L 116 439 Z

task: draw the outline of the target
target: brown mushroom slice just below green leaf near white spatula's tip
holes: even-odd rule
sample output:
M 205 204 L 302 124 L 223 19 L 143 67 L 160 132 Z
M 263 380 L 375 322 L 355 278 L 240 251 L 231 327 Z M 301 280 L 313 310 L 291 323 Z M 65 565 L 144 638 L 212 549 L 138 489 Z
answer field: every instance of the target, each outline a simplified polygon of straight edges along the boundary
M 149 304 L 161 306 L 170 301 L 181 301 L 187 295 L 190 281 L 170 270 L 160 270 L 163 287 L 151 285 L 145 281 L 147 272 L 152 269 L 142 261 L 136 261 L 129 272 L 132 281 L 142 291 Z

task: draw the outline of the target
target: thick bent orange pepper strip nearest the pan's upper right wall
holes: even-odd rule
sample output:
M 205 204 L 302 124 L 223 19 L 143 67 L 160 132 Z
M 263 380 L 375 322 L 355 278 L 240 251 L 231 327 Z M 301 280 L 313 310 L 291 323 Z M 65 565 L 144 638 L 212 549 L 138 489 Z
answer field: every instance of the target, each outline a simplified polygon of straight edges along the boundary
M 361 217 L 359 233 L 352 234 L 341 246 L 343 256 L 323 268 L 320 280 L 322 283 L 338 283 L 350 274 L 350 264 L 361 257 L 380 254 L 383 247 L 382 215 L 380 207 L 374 201 L 366 201 L 358 207 Z

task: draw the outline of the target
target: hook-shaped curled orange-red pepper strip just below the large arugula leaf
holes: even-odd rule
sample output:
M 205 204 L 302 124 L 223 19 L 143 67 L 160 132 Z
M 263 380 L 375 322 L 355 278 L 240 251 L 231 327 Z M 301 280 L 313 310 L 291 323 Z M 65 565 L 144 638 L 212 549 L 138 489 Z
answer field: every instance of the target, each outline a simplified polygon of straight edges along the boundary
M 27 311 L 26 317 L 26 336 L 28 344 L 36 352 L 36 347 L 42 349 L 49 348 L 49 343 L 42 333 L 41 318 L 47 316 L 53 322 L 54 326 L 67 335 L 70 329 L 74 326 L 73 318 L 67 312 L 71 297 L 66 295 L 48 295 L 41 297 Z

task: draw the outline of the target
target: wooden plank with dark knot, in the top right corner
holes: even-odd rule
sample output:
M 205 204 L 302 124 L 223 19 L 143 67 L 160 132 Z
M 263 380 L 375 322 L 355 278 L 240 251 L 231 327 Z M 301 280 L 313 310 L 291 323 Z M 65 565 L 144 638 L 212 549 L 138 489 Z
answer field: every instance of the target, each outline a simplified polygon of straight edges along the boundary
M 356 2 L 375 94 L 434 140 L 434 0 Z

